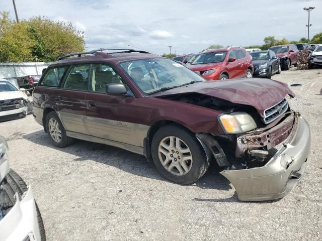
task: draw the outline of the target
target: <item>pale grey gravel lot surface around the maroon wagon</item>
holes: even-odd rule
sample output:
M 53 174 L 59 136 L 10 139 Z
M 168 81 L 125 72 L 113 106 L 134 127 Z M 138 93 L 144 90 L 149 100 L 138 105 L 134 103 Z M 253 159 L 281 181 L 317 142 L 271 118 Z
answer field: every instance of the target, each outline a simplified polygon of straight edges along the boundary
M 55 148 L 32 115 L 0 123 L 0 134 L 11 167 L 32 184 L 47 240 L 321 240 L 322 69 L 272 78 L 302 84 L 290 87 L 297 96 L 289 102 L 312 135 L 302 181 L 278 201 L 238 201 L 214 167 L 184 186 L 118 148 L 84 141 Z

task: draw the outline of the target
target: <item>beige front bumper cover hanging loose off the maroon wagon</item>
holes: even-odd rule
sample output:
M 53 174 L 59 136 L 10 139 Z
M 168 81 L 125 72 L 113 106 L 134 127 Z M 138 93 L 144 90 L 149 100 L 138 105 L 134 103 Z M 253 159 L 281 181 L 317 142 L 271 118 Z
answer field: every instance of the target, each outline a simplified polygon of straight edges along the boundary
M 286 196 L 301 180 L 310 150 L 310 130 L 299 114 L 294 131 L 269 162 L 258 168 L 220 172 L 241 201 L 265 201 Z

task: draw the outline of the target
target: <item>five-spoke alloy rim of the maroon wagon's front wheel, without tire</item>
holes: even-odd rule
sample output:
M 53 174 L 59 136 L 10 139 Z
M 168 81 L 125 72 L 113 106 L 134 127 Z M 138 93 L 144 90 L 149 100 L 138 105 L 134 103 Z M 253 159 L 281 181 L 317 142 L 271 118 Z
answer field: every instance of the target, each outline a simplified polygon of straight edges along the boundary
M 178 137 L 166 137 L 158 146 L 158 157 L 164 168 L 173 175 L 186 175 L 192 167 L 188 145 Z

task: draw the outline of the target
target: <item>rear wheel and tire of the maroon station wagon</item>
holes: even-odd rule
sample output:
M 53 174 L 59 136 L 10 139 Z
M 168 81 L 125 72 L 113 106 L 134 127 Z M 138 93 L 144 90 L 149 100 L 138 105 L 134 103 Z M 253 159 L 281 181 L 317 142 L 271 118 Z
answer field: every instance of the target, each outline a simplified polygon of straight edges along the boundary
M 67 147 L 73 143 L 73 138 L 67 137 L 66 130 L 56 112 L 51 111 L 46 116 L 46 130 L 51 143 L 56 147 Z

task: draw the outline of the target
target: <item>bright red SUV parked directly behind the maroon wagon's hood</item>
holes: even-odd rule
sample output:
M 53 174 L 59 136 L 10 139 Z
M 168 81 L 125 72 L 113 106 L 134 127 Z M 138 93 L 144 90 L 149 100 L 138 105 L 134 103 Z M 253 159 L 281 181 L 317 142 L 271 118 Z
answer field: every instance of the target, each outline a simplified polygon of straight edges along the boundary
M 205 50 L 187 68 L 199 72 L 206 80 L 253 76 L 252 57 L 240 47 Z

